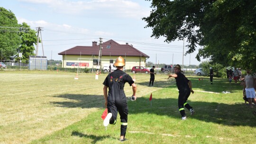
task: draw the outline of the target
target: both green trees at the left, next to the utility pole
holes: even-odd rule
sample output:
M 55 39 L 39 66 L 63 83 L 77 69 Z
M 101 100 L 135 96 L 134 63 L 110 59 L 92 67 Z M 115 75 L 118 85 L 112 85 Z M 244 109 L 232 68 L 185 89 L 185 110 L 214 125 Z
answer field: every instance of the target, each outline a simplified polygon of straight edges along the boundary
M 35 55 L 34 44 L 37 32 L 25 22 L 18 24 L 11 10 L 0 7 L 0 60 L 19 60 L 18 53 L 22 53 L 22 61 L 27 61 Z

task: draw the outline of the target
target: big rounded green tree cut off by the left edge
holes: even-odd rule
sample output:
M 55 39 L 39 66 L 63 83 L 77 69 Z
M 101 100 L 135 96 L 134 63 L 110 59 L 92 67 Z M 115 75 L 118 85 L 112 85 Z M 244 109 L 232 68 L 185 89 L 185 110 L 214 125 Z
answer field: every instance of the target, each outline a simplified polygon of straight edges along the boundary
M 0 7 L 0 58 L 12 60 L 21 38 L 18 36 L 18 20 L 10 10 Z

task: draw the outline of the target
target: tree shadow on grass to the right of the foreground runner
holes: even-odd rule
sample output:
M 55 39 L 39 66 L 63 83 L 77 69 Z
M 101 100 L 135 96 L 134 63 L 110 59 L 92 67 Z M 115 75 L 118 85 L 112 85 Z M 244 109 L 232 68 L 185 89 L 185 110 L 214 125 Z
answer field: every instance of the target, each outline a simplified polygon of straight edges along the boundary
M 195 114 L 190 116 L 189 110 L 185 110 L 189 119 L 217 123 L 227 126 L 256 126 L 256 116 L 249 106 L 245 106 L 243 101 L 235 104 L 225 104 L 217 102 L 191 102 L 187 101 L 195 110 Z M 178 110 L 178 100 L 152 99 L 152 106 L 148 98 L 137 98 L 136 101 L 129 101 L 129 114 L 148 113 L 169 117 L 181 118 Z

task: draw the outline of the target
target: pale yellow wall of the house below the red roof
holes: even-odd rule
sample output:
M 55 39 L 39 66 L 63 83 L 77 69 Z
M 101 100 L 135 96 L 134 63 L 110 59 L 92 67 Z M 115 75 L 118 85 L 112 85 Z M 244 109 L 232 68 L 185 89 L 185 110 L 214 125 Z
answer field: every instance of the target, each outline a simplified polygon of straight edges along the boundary
M 115 60 L 118 56 L 101 56 L 101 63 L 102 67 L 104 65 L 110 64 L 110 59 L 113 60 L 113 63 L 115 63 Z M 125 69 L 130 70 L 133 66 L 146 66 L 146 57 L 140 57 L 140 56 L 122 56 L 126 60 Z M 77 68 L 77 66 L 68 66 L 66 65 L 67 62 L 71 63 L 89 63 L 88 68 L 96 68 L 97 65 L 93 65 L 93 59 L 99 58 L 98 55 L 91 56 L 91 55 L 63 55 L 63 68 Z M 81 66 L 81 68 L 85 68 L 85 66 Z

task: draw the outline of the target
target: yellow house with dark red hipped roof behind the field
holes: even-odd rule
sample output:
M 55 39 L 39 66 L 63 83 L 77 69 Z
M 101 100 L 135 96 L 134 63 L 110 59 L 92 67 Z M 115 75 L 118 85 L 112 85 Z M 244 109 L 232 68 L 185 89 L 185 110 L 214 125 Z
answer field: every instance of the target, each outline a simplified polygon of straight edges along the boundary
M 109 66 L 115 63 L 117 57 L 122 56 L 125 59 L 125 69 L 132 69 L 133 66 L 146 66 L 148 55 L 142 53 L 133 47 L 133 45 L 120 45 L 110 39 L 101 44 L 101 66 Z M 64 68 L 96 68 L 99 63 L 100 45 L 97 42 L 92 42 L 91 46 L 75 46 L 65 50 L 59 55 L 62 55 Z

